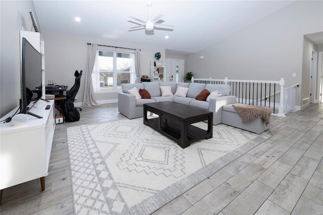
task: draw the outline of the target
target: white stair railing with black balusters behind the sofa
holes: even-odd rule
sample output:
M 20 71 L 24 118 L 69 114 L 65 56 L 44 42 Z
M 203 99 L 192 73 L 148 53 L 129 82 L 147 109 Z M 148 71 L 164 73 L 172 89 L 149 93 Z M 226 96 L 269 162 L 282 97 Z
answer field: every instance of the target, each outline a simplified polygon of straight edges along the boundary
M 212 84 L 225 84 L 228 85 L 230 84 L 230 86 L 232 85 L 232 91 L 234 90 L 235 87 L 235 96 L 239 99 L 239 103 L 240 103 L 240 99 L 242 99 L 242 102 L 245 99 L 245 103 L 247 103 L 247 93 L 249 92 L 249 104 L 251 97 L 252 96 L 252 105 L 254 104 L 254 102 L 256 102 L 256 105 L 258 105 L 258 101 L 260 101 L 260 106 L 262 105 L 261 101 L 264 100 L 264 106 L 266 106 L 266 99 L 269 98 L 269 107 L 271 106 L 271 97 L 274 97 L 274 115 L 278 115 L 278 116 L 285 116 L 286 111 L 286 107 L 284 107 L 284 104 L 287 103 L 287 99 L 289 99 L 289 96 L 284 96 L 284 91 L 287 91 L 288 89 L 292 89 L 292 88 L 296 88 L 299 86 L 299 83 L 292 85 L 291 87 L 288 88 L 284 88 L 285 85 L 285 80 L 284 78 L 281 78 L 280 80 L 236 80 L 236 79 L 228 79 L 227 77 L 225 77 L 224 79 L 214 79 L 214 78 L 194 78 L 192 77 L 191 79 L 192 82 L 199 82 L 199 83 L 212 83 Z M 239 83 L 239 85 L 238 85 Z M 240 93 L 240 83 L 242 83 L 242 95 Z M 252 89 L 251 89 L 251 84 L 252 84 Z M 273 85 L 271 85 L 273 84 Z M 280 90 L 278 92 L 276 92 L 276 84 L 280 85 Z M 254 90 L 254 87 L 256 85 L 256 92 Z M 258 86 L 260 85 L 260 86 Z M 247 87 L 249 87 L 249 89 L 247 89 Z M 269 88 L 269 94 L 266 95 L 266 88 Z M 259 90 L 260 88 L 260 90 Z M 271 90 L 274 90 L 274 93 L 271 94 Z M 251 90 L 252 90 L 252 94 L 251 95 Z M 238 91 L 238 92 L 237 92 Z M 258 91 L 260 94 L 260 99 L 258 99 Z M 262 96 L 262 91 L 264 91 L 264 97 Z M 245 93 L 245 95 L 244 95 Z M 254 93 L 256 93 L 256 95 L 254 95 Z M 231 94 L 231 93 L 230 93 Z M 279 107 L 278 107 L 278 114 L 275 114 L 275 95 L 279 94 L 280 95 L 280 103 L 279 103 Z M 234 95 L 234 92 L 232 92 L 232 95 Z M 256 98 L 255 98 L 256 97 Z M 286 97 L 286 98 L 285 98 Z M 295 96 L 294 96 L 295 97 Z M 295 98 L 291 98 L 292 100 Z

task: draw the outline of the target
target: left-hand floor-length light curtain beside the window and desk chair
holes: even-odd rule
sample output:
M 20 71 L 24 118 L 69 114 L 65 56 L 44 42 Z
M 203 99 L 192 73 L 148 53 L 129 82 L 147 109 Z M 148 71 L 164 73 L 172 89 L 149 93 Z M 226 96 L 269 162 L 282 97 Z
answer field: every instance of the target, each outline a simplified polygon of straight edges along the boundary
M 96 58 L 96 47 L 96 44 L 88 45 L 88 61 L 86 67 L 86 79 L 83 98 L 84 107 L 99 106 L 99 104 L 93 98 L 93 83 L 91 76 Z

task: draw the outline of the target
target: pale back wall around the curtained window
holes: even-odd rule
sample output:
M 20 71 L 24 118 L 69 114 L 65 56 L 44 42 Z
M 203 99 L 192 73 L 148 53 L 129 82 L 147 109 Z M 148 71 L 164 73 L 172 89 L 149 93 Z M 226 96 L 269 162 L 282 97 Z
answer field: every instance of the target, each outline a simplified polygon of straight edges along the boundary
M 118 44 L 107 39 L 88 38 L 57 34 L 52 32 L 41 32 L 45 41 L 45 79 L 54 80 L 58 84 L 68 85 L 71 88 L 75 82 L 75 70 L 83 70 L 81 85 L 75 103 L 83 102 L 84 85 L 87 66 L 87 42 L 125 47 L 130 49 L 141 49 L 140 52 L 140 74 L 150 74 L 150 61 L 154 59 L 156 52 L 160 52 L 161 60 L 165 60 L 165 49 L 157 47 L 137 47 L 135 44 Z M 125 50 L 126 51 L 126 50 Z M 140 76 L 141 76 L 140 75 Z M 118 99 L 118 93 L 96 93 L 97 101 L 107 101 Z

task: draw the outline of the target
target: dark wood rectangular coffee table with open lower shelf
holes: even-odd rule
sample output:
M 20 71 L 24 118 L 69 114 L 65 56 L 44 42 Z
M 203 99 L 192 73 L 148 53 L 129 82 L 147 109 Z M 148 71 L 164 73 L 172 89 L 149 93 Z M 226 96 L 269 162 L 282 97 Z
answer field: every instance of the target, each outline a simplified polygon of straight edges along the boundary
M 147 118 L 147 111 L 158 117 Z M 192 142 L 212 138 L 213 113 L 174 102 L 156 102 L 143 105 L 143 123 L 186 148 Z M 207 120 L 207 131 L 192 125 Z

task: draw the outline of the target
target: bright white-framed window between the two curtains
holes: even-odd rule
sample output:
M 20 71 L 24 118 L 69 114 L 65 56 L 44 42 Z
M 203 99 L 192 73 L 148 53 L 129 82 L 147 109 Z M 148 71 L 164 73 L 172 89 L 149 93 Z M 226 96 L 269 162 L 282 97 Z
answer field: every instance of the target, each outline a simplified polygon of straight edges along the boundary
M 92 72 L 94 92 L 118 92 L 136 80 L 134 53 L 97 50 Z

